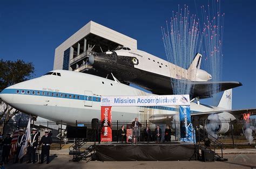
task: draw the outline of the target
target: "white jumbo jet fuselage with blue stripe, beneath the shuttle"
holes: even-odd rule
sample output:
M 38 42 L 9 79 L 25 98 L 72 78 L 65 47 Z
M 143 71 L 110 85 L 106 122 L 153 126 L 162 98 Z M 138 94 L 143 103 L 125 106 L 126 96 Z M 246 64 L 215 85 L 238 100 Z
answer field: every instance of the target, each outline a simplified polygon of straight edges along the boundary
M 75 124 L 76 120 L 100 119 L 100 96 L 102 95 L 152 95 L 95 75 L 63 70 L 52 72 L 59 73 L 60 76 L 57 74 L 44 75 L 10 86 L 2 91 L 2 100 L 27 114 L 44 117 L 52 121 Z M 192 114 L 220 109 L 191 103 Z M 153 115 L 175 116 L 178 114 L 177 111 L 177 107 L 113 107 L 112 119 L 132 120 L 139 117 L 140 120 L 145 120 Z M 221 116 L 221 114 L 219 115 Z

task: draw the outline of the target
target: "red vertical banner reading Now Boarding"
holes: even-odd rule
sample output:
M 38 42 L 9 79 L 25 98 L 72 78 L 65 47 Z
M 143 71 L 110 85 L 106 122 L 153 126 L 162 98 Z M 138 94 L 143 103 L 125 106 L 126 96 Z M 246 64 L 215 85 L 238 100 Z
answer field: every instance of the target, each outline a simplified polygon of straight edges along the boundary
M 102 142 L 112 142 L 112 114 L 111 106 L 102 106 L 102 120 L 101 127 L 102 132 L 100 133 L 100 141 Z

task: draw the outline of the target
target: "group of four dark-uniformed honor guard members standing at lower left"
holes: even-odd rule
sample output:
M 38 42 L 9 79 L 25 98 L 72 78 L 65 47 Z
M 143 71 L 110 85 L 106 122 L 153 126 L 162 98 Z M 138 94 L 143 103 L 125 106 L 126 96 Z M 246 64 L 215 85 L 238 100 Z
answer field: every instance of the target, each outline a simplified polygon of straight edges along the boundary
M 26 138 L 25 138 L 24 130 L 20 129 L 17 137 L 17 149 L 15 151 L 15 157 L 14 157 L 14 163 L 23 163 L 23 158 L 19 158 L 19 153 L 22 150 L 23 145 L 25 145 Z M 10 150 L 11 150 L 11 142 L 12 142 L 12 137 L 11 134 L 8 133 L 6 137 L 3 139 L 2 142 L 2 163 L 8 163 L 9 162 L 9 155 L 10 155 Z M 44 161 L 44 156 L 46 156 L 46 164 L 50 163 L 50 145 L 52 144 L 52 138 L 49 135 L 49 131 L 45 131 L 44 136 L 41 138 L 39 142 L 39 133 L 37 133 L 37 129 L 33 128 L 32 133 L 31 133 L 31 139 L 27 140 L 28 142 L 28 147 L 27 147 L 27 156 L 28 160 L 26 163 L 36 163 L 36 150 L 41 147 L 41 160 L 40 164 L 43 163 Z M 38 159 L 39 160 L 39 159 Z

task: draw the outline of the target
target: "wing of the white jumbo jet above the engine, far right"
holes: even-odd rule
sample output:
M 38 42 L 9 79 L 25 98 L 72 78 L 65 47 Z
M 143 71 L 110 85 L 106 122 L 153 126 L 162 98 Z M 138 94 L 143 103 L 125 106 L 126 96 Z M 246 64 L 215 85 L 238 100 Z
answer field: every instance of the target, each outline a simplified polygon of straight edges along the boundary
M 239 109 L 239 110 L 220 110 L 220 111 L 207 111 L 191 114 L 191 116 L 199 116 L 200 118 L 207 118 L 210 114 L 218 114 L 220 112 L 230 112 L 236 118 L 240 118 L 243 114 L 256 115 L 256 109 Z

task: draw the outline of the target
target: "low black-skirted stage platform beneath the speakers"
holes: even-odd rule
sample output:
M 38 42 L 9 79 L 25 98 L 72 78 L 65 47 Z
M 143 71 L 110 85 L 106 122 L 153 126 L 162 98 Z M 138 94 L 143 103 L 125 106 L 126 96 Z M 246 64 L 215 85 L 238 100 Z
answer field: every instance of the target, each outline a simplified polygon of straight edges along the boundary
M 194 144 L 184 142 L 96 145 L 100 161 L 177 161 L 189 160 L 193 154 Z

